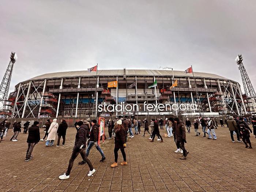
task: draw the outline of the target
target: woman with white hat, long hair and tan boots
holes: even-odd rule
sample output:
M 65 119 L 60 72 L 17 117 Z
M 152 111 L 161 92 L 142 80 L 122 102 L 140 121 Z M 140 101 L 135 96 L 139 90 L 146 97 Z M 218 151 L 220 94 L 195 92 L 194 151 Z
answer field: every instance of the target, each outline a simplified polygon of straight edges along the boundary
M 125 130 L 124 126 L 122 125 L 122 120 L 117 121 L 117 126 L 114 129 L 115 132 L 115 147 L 114 147 L 114 163 L 111 165 L 111 167 L 117 167 L 117 159 L 118 159 L 118 151 L 120 150 L 123 155 L 123 162 L 120 163 L 120 165 L 127 165 L 126 161 L 126 154 L 124 151 L 124 148 L 126 147 L 125 144 Z

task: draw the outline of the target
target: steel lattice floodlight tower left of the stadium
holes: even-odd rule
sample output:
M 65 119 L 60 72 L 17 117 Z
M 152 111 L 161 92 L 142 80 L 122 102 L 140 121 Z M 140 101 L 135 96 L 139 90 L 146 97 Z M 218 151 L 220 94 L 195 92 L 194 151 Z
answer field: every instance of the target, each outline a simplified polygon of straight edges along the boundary
M 9 92 L 9 87 L 10 87 L 10 82 L 11 82 L 11 77 L 12 77 L 12 69 L 13 69 L 14 63 L 17 60 L 17 56 L 16 56 L 15 52 L 11 53 L 10 59 L 11 60 L 10 60 L 9 65 L 5 71 L 3 80 L 0 85 L 0 112 L 1 112 L 1 114 L 4 114 L 5 112 L 8 111 L 5 104 L 6 104 L 6 100 L 7 100 L 7 96 L 8 96 L 8 92 Z

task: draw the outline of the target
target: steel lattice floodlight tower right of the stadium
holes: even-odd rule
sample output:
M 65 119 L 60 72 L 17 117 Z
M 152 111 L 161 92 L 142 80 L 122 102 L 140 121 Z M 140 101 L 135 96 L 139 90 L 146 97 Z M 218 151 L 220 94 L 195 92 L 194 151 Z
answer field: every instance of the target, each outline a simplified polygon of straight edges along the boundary
M 238 54 L 236 58 L 236 62 L 238 65 L 238 69 L 240 70 L 240 73 L 241 73 L 246 98 L 251 100 L 251 106 L 249 105 L 249 107 L 253 108 L 253 111 L 255 111 L 256 110 L 256 94 L 252 87 L 251 80 L 249 79 L 249 76 L 244 68 L 244 64 L 242 63 L 242 60 L 243 60 L 242 54 Z

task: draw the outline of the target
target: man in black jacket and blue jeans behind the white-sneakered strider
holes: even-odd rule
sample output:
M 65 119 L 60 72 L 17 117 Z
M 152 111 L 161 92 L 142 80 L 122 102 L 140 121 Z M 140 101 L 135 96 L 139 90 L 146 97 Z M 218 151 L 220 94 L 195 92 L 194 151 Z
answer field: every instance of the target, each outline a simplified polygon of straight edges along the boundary
M 99 153 L 101 154 L 102 158 L 101 158 L 100 162 L 103 162 L 106 159 L 106 157 L 105 157 L 102 149 L 98 146 L 99 124 L 97 123 L 96 119 L 93 119 L 91 121 L 91 124 L 92 124 L 92 127 L 90 129 L 90 139 L 88 141 L 89 144 L 86 149 L 86 157 L 88 157 L 91 147 L 93 147 L 93 145 L 94 145 L 97 148 L 97 150 L 99 151 Z

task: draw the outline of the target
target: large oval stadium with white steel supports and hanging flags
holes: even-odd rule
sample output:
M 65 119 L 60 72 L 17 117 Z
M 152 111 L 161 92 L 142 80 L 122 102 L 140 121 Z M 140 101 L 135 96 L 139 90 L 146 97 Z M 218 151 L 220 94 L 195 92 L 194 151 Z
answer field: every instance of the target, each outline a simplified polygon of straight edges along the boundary
M 12 118 L 250 113 L 239 83 L 214 74 L 172 70 L 49 73 L 18 83 L 8 102 Z

